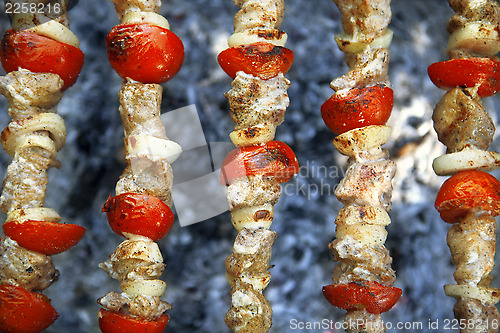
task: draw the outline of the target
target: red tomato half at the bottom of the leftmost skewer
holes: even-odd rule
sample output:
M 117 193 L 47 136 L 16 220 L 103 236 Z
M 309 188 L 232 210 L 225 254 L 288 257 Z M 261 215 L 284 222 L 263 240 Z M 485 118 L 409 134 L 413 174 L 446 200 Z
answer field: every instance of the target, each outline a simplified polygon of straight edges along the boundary
M 46 296 L 10 284 L 0 285 L 0 332 L 39 333 L 58 316 Z

